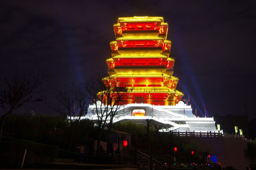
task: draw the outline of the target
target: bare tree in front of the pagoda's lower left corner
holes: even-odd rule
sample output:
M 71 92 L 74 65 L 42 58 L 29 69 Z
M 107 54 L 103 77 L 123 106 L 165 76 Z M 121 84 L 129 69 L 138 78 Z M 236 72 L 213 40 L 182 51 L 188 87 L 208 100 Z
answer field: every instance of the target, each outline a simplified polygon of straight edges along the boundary
M 97 151 L 100 150 L 101 135 L 110 120 L 112 128 L 113 119 L 118 114 L 122 100 L 125 97 L 124 87 L 117 87 L 114 84 L 102 82 L 101 75 L 92 75 L 84 84 L 88 98 L 94 104 L 93 114 L 97 115 L 98 141 Z

